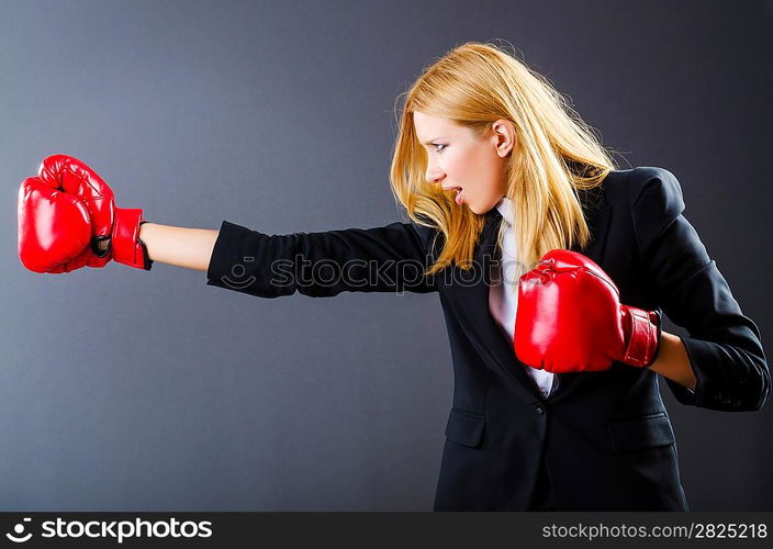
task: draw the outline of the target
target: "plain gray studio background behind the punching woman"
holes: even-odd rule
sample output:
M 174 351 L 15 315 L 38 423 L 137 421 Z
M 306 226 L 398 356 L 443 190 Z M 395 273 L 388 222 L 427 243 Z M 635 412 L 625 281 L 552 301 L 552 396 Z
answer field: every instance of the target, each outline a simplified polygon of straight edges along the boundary
M 627 165 L 676 175 L 770 343 L 772 23 L 770 1 L 0 1 L 0 509 L 426 511 L 451 404 L 437 294 L 26 271 L 16 192 L 46 155 L 158 223 L 383 225 L 396 94 L 507 41 Z M 773 509 L 773 407 L 661 389 L 691 507 Z

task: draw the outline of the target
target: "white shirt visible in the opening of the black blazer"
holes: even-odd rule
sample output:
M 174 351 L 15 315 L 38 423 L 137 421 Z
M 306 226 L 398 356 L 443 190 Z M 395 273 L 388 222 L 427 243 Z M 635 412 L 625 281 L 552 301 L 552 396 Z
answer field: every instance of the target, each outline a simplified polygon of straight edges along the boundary
M 503 249 L 500 261 L 502 267 L 500 277 L 501 283 L 497 284 L 496 280 L 492 280 L 492 284 L 489 290 L 489 310 L 504 330 L 504 335 L 508 338 L 507 341 L 509 345 L 513 345 L 513 336 L 515 333 L 515 312 L 518 307 L 518 281 L 515 279 L 517 243 L 515 242 L 512 231 L 515 214 L 513 210 L 513 202 L 507 197 L 500 200 L 495 208 L 500 211 L 503 222 L 507 223 L 508 227 L 502 243 Z M 524 367 L 539 388 L 542 396 L 547 397 L 553 390 L 553 379 L 556 374 L 546 370 L 537 370 L 528 366 Z

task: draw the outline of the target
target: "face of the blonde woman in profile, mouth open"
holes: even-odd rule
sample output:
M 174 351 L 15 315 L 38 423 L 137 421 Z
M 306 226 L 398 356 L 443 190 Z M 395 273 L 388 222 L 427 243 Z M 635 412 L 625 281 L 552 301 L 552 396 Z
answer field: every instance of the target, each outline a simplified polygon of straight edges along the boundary
M 515 139 L 512 122 L 497 120 L 484 137 L 449 119 L 418 111 L 413 113 L 413 124 L 427 150 L 427 182 L 442 186 L 457 204 L 477 214 L 486 213 L 505 195 L 505 163 Z

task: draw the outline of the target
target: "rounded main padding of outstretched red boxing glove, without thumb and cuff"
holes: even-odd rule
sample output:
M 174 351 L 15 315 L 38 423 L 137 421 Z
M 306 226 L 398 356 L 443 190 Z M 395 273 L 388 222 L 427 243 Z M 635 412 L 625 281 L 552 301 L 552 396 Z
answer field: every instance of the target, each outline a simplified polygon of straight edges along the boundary
M 69 272 L 102 267 L 109 258 L 89 247 L 91 217 L 86 205 L 40 178 L 25 179 L 19 189 L 19 258 L 35 272 Z

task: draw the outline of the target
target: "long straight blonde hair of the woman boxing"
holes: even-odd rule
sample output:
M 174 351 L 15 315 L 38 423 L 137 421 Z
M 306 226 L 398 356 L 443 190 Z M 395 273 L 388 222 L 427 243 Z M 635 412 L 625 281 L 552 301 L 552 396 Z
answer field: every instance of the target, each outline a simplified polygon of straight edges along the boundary
M 471 268 L 485 214 L 459 206 L 451 193 L 425 179 L 427 153 L 413 125 L 414 111 L 468 126 L 479 135 L 500 119 L 513 122 L 516 144 L 505 165 L 513 201 L 518 276 L 554 248 L 585 246 L 590 231 L 575 189 L 601 184 L 615 169 L 610 155 L 550 82 L 494 44 L 468 42 L 430 66 L 405 96 L 394 144 L 390 183 L 408 217 L 438 228 L 445 244 L 425 274 L 453 262 Z M 502 223 L 497 245 L 502 246 Z

